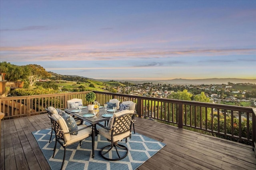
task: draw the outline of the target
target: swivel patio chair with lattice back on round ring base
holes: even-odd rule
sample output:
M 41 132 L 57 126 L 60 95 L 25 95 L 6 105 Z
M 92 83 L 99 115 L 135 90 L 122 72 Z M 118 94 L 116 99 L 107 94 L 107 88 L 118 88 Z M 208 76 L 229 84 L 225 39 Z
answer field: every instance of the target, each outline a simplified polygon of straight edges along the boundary
M 115 161 L 121 160 L 128 155 L 128 148 L 118 144 L 118 141 L 126 139 L 127 142 L 127 138 L 131 136 L 130 130 L 133 115 L 134 111 L 123 110 L 114 113 L 112 119 L 110 118 L 107 127 L 98 123 L 98 125 L 102 127 L 98 129 L 99 134 L 111 143 L 100 151 L 100 154 L 104 159 Z

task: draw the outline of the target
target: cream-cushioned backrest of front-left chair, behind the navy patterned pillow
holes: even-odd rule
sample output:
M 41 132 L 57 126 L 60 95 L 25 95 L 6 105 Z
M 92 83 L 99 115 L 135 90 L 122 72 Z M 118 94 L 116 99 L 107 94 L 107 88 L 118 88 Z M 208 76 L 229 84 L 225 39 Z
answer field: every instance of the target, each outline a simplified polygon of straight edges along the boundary
M 52 128 L 55 131 L 55 135 L 57 139 L 61 139 L 66 143 L 70 140 L 70 134 L 68 133 L 68 126 L 66 121 L 58 114 L 52 114 L 52 116 L 48 115 L 52 122 Z

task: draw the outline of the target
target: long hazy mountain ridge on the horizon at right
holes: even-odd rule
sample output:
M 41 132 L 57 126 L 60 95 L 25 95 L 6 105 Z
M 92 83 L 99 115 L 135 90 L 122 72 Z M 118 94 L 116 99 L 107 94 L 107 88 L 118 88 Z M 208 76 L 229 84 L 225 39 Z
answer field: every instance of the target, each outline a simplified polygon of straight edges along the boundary
M 124 80 L 128 81 L 128 80 Z M 134 84 L 142 84 L 144 82 L 152 82 L 153 84 L 228 84 L 228 82 L 237 83 L 252 83 L 256 84 L 256 79 L 242 78 L 206 78 L 206 79 L 182 79 L 176 78 L 172 80 L 148 80 L 148 81 L 128 81 Z

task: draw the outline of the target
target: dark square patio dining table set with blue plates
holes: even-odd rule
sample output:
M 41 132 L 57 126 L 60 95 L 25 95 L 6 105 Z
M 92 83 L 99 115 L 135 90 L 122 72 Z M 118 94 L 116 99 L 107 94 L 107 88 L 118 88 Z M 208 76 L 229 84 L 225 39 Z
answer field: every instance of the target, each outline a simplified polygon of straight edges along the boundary
M 108 121 L 111 117 L 112 112 L 109 112 L 108 110 L 105 110 L 105 107 L 101 106 L 99 108 L 98 113 L 96 114 L 96 117 L 93 115 L 93 111 L 88 111 L 87 107 L 84 107 L 81 109 L 82 111 L 76 109 L 76 108 L 70 108 L 70 109 L 64 109 L 66 113 L 69 113 L 71 115 L 74 115 L 75 117 L 78 117 L 90 124 L 92 124 L 92 158 L 94 158 L 94 141 L 95 141 L 95 136 L 98 135 L 96 125 L 97 123 L 100 122 L 105 122 Z M 90 117 L 92 116 L 93 117 Z M 104 115 L 108 117 L 104 117 Z

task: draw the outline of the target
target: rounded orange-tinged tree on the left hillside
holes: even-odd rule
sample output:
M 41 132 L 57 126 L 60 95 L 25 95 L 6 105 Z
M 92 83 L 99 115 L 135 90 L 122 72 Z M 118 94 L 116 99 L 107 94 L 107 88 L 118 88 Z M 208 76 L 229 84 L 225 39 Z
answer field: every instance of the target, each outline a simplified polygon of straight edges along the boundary
M 25 81 L 29 84 L 29 88 L 31 88 L 39 79 L 51 77 L 50 73 L 48 73 L 42 66 L 37 64 L 28 64 L 25 66 L 25 70 L 29 73 L 28 77 L 25 79 Z

